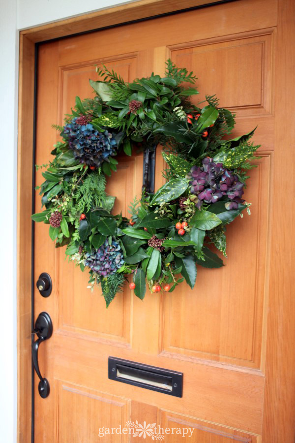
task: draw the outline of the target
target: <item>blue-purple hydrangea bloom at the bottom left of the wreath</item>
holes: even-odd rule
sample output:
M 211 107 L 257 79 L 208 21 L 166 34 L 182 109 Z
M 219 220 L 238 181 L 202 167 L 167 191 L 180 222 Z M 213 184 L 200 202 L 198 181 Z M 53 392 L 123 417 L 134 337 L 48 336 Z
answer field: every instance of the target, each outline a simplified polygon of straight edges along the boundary
M 93 250 L 91 253 L 87 253 L 85 257 L 85 265 L 103 277 L 115 274 L 124 263 L 121 247 L 114 240 L 111 245 L 106 240 L 97 251 Z

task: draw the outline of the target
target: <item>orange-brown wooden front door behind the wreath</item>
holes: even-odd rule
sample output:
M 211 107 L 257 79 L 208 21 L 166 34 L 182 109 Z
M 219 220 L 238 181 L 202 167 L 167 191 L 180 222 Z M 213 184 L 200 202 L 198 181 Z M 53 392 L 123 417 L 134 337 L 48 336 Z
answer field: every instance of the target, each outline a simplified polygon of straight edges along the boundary
M 101 436 L 100 428 L 124 427 L 128 420 L 193 430 L 192 437 L 167 432 L 169 443 L 293 441 L 284 355 L 294 349 L 280 317 L 283 297 L 291 296 L 291 281 L 285 280 L 290 257 L 285 243 L 278 249 L 280 230 L 291 239 L 286 220 L 278 220 L 287 197 L 278 198 L 274 187 L 276 178 L 284 182 L 280 174 L 293 160 L 276 38 L 287 51 L 291 43 L 287 38 L 284 43 L 277 11 L 277 0 L 240 0 L 40 45 L 39 165 L 48 162 L 57 140 L 51 124 L 62 125 L 75 95 L 91 95 L 88 79 L 96 78 L 95 64 L 105 63 L 130 81 L 151 71 L 163 74 L 169 57 L 199 77 L 198 101 L 217 94 L 220 104 L 236 113 L 236 135 L 258 125 L 255 143 L 262 146 L 245 193 L 251 216 L 231 223 L 226 266 L 199 268 L 193 291 L 183 284 L 172 294 L 147 293 L 142 302 L 126 285 L 106 310 L 99 289 L 87 289 L 87 273 L 55 249 L 48 226 L 35 226 L 35 280 L 44 271 L 53 279 L 50 297 L 36 290 L 35 316 L 46 311 L 54 325 L 39 350 L 51 392 L 41 399 L 35 380 L 36 443 L 140 442 L 143 437 L 115 431 Z M 142 154 L 120 158 L 118 172 L 108 180 L 108 192 L 117 196 L 116 213 L 122 209 L 127 215 L 129 202 L 140 194 L 142 166 Z M 163 166 L 158 152 L 156 188 L 163 184 Z M 41 171 L 36 182 L 42 182 Z M 38 195 L 35 209 L 40 210 Z M 109 356 L 182 372 L 183 397 L 109 380 Z

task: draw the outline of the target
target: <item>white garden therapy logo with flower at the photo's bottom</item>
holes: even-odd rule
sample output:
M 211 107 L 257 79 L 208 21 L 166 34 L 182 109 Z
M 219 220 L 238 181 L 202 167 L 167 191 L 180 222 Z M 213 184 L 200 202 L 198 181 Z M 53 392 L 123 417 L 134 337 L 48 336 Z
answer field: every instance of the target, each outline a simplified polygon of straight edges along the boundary
M 151 438 L 152 440 L 163 441 L 165 435 L 179 435 L 181 437 L 191 437 L 193 435 L 194 428 L 162 428 L 160 425 L 156 425 L 156 423 L 148 423 L 144 421 L 143 424 L 139 423 L 137 420 L 127 421 L 124 428 L 119 425 L 117 428 L 99 428 L 98 437 L 104 437 L 106 435 L 120 435 L 120 434 L 129 434 L 133 435 L 133 437 L 142 437 L 144 439 Z

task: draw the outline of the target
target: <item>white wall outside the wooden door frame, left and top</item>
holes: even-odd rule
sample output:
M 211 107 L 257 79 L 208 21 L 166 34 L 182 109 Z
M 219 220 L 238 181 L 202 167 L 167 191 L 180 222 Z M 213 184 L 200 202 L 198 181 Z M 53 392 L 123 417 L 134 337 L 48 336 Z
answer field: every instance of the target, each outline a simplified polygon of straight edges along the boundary
M 133 0 L 132 0 L 133 1 Z M 0 0 L 0 442 L 16 442 L 18 30 L 129 1 Z M 30 297 L 30 294 L 28 294 Z

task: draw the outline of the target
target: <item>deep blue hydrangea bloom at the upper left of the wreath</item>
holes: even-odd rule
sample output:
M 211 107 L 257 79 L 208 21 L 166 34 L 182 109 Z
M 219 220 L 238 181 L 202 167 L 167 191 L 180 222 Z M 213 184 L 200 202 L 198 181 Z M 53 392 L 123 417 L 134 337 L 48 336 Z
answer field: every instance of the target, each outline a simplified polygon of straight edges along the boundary
M 63 128 L 69 148 L 80 163 L 99 167 L 109 156 L 117 153 L 116 140 L 111 132 L 99 132 L 87 121 L 81 124 L 81 120 L 81 117 L 75 117 Z

